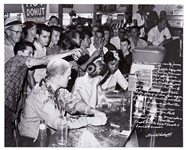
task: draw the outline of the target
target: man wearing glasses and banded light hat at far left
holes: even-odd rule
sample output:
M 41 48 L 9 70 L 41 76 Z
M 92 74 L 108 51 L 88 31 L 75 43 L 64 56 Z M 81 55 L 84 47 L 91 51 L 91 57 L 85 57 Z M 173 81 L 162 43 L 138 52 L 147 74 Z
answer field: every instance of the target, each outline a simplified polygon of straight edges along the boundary
M 5 63 L 14 56 L 14 46 L 21 39 L 22 22 L 16 17 L 10 17 L 5 20 Z

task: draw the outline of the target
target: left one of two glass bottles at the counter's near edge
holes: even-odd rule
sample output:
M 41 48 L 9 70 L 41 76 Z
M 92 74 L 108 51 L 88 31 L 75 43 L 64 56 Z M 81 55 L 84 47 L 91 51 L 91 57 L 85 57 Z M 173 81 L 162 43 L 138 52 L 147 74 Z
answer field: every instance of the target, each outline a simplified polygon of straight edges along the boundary
M 41 120 L 39 125 L 39 133 L 36 141 L 37 147 L 48 147 L 49 141 L 46 133 L 45 121 Z

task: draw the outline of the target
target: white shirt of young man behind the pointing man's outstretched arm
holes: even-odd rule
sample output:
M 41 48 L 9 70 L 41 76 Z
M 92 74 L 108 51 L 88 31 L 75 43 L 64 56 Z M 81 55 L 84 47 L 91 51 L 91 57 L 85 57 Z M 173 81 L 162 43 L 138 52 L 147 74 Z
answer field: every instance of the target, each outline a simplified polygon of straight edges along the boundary
M 34 52 L 34 58 L 40 58 L 46 56 L 46 47 L 41 47 L 39 43 L 34 42 L 36 50 Z M 46 76 L 46 68 L 37 68 L 35 69 L 34 79 L 36 82 L 40 82 L 42 78 Z

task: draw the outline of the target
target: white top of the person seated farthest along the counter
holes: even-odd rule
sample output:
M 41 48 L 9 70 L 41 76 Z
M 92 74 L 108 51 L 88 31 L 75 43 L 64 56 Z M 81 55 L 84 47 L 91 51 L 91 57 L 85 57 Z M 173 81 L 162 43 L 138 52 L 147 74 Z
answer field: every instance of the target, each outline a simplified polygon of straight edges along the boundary
M 128 82 L 121 74 L 120 70 L 118 69 L 114 74 L 111 74 L 110 77 L 102 84 L 103 91 L 112 91 L 116 88 L 116 84 L 119 84 L 121 88 L 124 90 L 128 87 Z

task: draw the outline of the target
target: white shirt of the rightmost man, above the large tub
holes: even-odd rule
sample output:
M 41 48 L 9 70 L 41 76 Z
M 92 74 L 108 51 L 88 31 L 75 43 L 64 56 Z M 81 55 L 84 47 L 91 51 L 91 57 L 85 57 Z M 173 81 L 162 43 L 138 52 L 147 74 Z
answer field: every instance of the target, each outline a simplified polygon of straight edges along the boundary
M 164 30 L 159 32 L 158 26 L 155 26 L 148 32 L 147 41 L 152 42 L 154 46 L 158 46 L 164 41 L 164 36 L 166 36 L 166 39 L 171 38 L 169 29 L 166 27 Z

